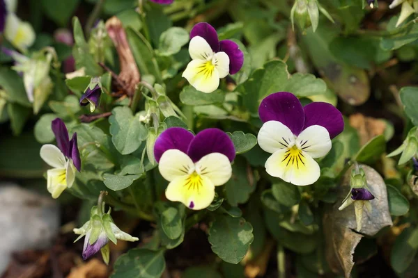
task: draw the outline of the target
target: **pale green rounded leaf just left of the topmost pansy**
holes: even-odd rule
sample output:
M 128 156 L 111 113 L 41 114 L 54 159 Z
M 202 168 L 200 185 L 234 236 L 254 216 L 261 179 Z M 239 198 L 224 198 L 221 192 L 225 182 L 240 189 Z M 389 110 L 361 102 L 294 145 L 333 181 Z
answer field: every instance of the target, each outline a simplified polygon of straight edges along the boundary
M 161 34 L 158 54 L 161 56 L 176 54 L 187 42 L 189 42 L 189 32 L 181 27 L 171 27 Z

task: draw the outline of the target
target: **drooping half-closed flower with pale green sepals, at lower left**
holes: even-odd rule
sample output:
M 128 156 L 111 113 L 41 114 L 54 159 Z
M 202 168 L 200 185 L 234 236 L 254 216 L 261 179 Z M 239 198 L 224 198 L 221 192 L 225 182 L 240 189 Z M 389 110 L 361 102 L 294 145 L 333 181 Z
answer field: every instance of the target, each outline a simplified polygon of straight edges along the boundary
M 102 250 L 102 256 L 105 263 L 109 263 L 108 243 L 109 240 L 114 244 L 117 244 L 117 240 L 137 241 L 139 238 L 130 236 L 121 229 L 119 229 L 114 223 L 110 215 L 110 209 L 107 213 L 100 212 L 98 206 L 91 208 L 91 217 L 84 225 L 79 229 L 73 229 L 74 233 L 80 235 L 75 241 L 79 240 L 83 236 L 83 259 L 86 260 Z

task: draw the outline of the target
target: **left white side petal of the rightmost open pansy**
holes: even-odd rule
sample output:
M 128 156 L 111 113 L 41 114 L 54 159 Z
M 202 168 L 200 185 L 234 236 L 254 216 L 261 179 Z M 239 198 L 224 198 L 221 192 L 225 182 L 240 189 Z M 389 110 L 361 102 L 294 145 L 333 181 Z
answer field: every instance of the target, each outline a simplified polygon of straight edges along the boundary
M 295 145 L 295 136 L 291 129 L 277 121 L 265 122 L 258 132 L 257 140 L 261 149 L 270 154 Z

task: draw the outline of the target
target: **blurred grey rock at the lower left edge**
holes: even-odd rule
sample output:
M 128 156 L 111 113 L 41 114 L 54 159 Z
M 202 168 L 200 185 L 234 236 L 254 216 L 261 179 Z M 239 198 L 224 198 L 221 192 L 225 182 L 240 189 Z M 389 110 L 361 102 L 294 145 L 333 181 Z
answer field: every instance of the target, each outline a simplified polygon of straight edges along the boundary
M 54 200 L 14 183 L 0 183 L 0 276 L 13 252 L 52 246 L 59 224 Z

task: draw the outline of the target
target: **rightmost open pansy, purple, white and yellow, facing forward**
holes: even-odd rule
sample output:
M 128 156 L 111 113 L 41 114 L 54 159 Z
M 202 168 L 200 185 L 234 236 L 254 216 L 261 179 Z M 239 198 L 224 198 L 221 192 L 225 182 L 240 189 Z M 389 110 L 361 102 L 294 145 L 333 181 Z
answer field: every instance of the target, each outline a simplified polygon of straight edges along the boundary
M 303 107 L 290 92 L 276 92 L 261 101 L 258 114 L 264 122 L 258 145 L 272 154 L 265 162 L 268 174 L 296 186 L 317 181 L 314 158 L 330 152 L 331 139 L 343 131 L 341 112 L 325 102 Z

